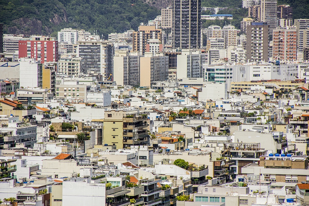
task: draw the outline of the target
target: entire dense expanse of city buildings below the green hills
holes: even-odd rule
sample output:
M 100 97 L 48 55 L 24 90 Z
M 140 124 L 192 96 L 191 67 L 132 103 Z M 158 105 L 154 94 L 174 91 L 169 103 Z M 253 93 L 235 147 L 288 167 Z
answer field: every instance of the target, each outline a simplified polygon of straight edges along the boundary
M 309 205 L 309 19 L 243 8 L 202 28 L 233 15 L 174 0 L 106 39 L 0 24 L 0 205 Z

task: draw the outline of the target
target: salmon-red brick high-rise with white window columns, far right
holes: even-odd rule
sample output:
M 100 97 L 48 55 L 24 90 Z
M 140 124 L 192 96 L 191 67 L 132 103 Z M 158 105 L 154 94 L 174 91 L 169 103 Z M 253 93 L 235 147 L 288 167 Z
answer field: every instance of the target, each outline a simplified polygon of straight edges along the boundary
M 273 30 L 273 58 L 296 61 L 296 27 L 277 27 Z

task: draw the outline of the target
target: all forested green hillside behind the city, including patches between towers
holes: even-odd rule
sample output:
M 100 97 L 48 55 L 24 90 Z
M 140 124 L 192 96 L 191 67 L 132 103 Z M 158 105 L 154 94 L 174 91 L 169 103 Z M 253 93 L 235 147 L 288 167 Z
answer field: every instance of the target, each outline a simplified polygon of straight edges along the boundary
M 279 0 L 293 6 L 293 18 L 309 18 L 309 0 Z M 106 38 L 112 32 L 137 29 L 160 14 L 160 8 L 171 6 L 171 0 L 0 0 L 0 23 L 5 33 L 56 35 L 64 27 L 94 31 Z M 233 20 L 203 21 L 211 24 L 232 24 L 248 15 L 242 0 L 202 0 L 202 6 L 228 7 L 220 14 L 232 14 Z

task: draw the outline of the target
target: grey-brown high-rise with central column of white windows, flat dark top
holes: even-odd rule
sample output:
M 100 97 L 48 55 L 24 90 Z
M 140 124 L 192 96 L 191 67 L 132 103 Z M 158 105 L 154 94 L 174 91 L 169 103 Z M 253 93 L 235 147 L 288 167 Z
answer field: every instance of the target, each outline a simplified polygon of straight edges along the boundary
M 268 62 L 268 25 L 252 22 L 247 27 L 247 61 Z

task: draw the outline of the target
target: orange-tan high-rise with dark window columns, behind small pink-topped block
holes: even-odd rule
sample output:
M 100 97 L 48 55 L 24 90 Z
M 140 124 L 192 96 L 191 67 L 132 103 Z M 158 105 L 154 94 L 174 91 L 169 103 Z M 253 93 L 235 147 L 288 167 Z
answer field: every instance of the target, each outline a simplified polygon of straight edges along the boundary
M 139 26 L 137 32 L 133 32 L 133 52 L 146 52 L 146 44 L 150 39 L 158 39 L 159 44 L 162 44 L 162 31 L 156 29 L 155 26 Z

